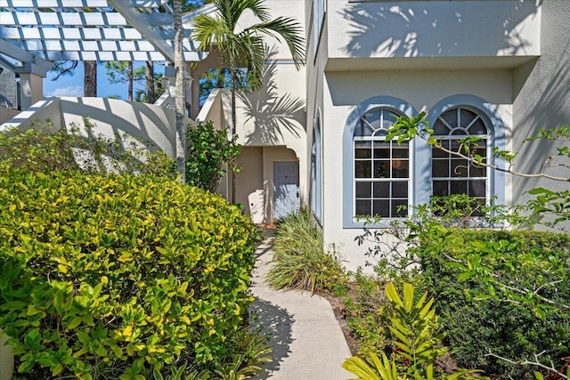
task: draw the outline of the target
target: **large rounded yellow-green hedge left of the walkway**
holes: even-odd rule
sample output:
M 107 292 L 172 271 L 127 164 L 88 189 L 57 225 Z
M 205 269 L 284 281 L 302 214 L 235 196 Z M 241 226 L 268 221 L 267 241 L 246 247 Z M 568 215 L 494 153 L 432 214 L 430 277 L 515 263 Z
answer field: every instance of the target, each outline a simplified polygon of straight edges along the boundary
M 147 175 L 0 174 L 0 328 L 28 378 L 208 368 L 244 324 L 254 226 Z

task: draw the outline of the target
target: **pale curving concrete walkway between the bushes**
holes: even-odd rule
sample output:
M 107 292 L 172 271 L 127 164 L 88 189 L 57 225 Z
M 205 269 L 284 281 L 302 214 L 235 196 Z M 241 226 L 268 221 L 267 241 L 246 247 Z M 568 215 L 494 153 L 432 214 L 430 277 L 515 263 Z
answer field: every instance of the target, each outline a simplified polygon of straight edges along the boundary
M 272 339 L 273 361 L 254 379 L 346 380 L 341 367 L 350 351 L 330 303 L 318 295 L 275 291 L 265 283 L 273 251 L 271 238 L 257 248 L 251 311 Z

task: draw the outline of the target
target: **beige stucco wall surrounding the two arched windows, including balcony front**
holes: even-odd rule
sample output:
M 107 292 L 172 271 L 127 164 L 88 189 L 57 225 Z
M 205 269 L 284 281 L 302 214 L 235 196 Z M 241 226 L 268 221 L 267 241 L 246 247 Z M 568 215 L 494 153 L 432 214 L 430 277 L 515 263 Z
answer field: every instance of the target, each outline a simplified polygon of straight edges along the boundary
M 313 33 L 307 32 L 307 140 L 320 109 L 324 243 L 335 243 L 351 270 L 366 258 L 365 247 L 354 242 L 362 230 L 342 226 L 342 131 L 346 117 L 361 101 L 394 96 L 420 111 L 448 96 L 476 95 L 497 109 L 508 150 L 520 150 L 520 143 L 541 126 L 570 123 L 566 0 L 327 5 L 316 58 Z M 307 24 L 311 9 L 312 2 L 305 2 Z M 307 157 L 310 147 L 307 141 Z M 517 169 L 535 170 L 549 151 L 525 143 L 519 158 L 533 159 L 519 159 Z M 505 200 L 524 203 L 525 191 L 543 183 L 506 176 Z M 567 189 L 567 183 L 550 186 Z

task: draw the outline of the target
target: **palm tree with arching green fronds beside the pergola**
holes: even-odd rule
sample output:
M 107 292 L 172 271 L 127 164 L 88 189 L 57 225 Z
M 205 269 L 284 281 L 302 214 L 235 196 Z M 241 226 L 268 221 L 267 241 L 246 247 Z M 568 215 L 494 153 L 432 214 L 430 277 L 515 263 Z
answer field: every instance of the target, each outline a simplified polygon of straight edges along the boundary
M 232 140 L 236 140 L 235 95 L 238 85 L 238 69 L 246 68 L 249 90 L 255 91 L 263 81 L 265 59 L 264 36 L 283 39 L 289 47 L 295 66 L 305 64 L 305 41 L 300 24 L 288 17 L 271 20 L 263 0 L 214 0 L 219 14 L 200 14 L 194 18 L 194 37 L 199 49 L 212 51 L 217 48 L 220 58 L 230 69 L 232 91 Z M 236 30 L 238 20 L 245 11 L 252 12 L 260 21 L 243 30 Z M 232 176 L 232 202 L 235 201 L 235 176 Z

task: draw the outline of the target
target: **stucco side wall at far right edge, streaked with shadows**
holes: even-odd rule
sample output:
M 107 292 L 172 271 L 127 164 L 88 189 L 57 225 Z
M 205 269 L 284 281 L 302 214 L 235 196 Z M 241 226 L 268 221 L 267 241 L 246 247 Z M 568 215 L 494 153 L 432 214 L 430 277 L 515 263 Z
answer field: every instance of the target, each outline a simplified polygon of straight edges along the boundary
M 515 70 L 514 149 L 519 150 L 517 170 L 537 173 L 546 159 L 555 153 L 545 141 L 525 142 L 539 128 L 570 125 L 570 4 L 566 0 L 546 0 L 542 4 L 542 55 Z M 567 144 L 566 144 L 567 145 Z M 525 159 L 532 158 L 532 159 Z M 560 161 L 557 161 L 560 164 Z M 570 164 L 567 163 L 566 164 Z M 570 177 L 561 166 L 547 169 L 550 174 Z M 534 187 L 568 190 L 568 182 L 513 178 L 513 197 L 517 203 L 530 198 L 525 191 Z M 570 226 L 568 226 L 570 227 Z

